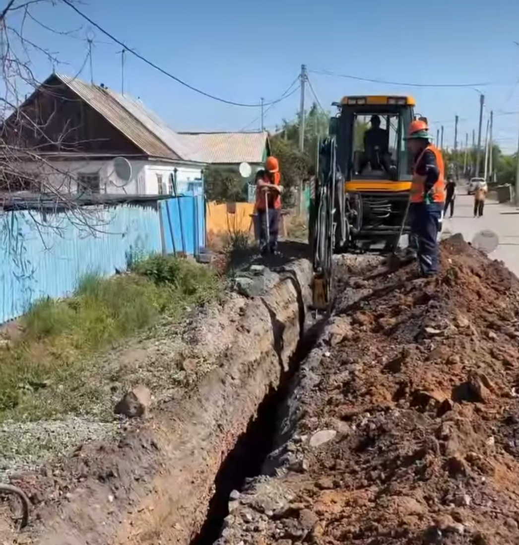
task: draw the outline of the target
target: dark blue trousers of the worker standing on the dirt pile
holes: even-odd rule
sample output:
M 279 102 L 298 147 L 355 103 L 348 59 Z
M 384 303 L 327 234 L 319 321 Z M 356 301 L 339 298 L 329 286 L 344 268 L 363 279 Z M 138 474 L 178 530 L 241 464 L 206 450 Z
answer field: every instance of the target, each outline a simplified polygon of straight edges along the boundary
M 438 272 L 438 231 L 444 203 L 411 204 L 411 245 L 416 250 L 420 271 L 424 276 Z

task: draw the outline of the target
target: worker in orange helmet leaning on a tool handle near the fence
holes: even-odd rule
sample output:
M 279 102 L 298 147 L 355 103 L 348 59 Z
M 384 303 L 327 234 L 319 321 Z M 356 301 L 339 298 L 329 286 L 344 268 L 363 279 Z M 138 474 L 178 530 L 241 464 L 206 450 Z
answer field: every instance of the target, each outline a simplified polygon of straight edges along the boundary
M 265 169 L 256 179 L 256 205 L 259 217 L 260 251 L 277 253 L 279 216 L 281 213 L 281 193 L 279 162 L 275 157 L 267 157 Z M 268 213 L 267 213 L 268 210 Z M 268 222 L 268 240 L 267 240 Z

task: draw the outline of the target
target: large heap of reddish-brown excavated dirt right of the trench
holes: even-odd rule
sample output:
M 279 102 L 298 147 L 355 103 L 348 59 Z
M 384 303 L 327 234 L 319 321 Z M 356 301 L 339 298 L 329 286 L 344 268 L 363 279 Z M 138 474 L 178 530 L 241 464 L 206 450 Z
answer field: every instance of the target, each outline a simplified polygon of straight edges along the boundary
M 220 542 L 519 543 L 517 277 L 456 235 L 437 278 L 375 270 L 343 293 L 281 467 Z

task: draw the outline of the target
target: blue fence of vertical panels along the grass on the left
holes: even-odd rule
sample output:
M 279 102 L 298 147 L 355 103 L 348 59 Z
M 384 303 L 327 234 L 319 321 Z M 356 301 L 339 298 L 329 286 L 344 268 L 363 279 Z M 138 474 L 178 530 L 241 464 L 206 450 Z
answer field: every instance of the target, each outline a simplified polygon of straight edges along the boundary
M 202 195 L 44 216 L 34 210 L 4 212 L 0 214 L 0 323 L 20 316 L 44 296 L 70 294 L 89 272 L 113 275 L 116 269 L 125 270 L 129 257 L 136 254 L 176 250 L 193 255 L 204 240 Z

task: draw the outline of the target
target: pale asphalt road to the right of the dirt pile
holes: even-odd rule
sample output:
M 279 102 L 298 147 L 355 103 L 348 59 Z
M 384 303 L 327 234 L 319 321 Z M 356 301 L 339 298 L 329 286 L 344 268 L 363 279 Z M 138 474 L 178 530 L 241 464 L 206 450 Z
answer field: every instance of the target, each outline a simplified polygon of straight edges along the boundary
M 493 231 L 499 239 L 499 245 L 489 257 L 503 261 L 506 267 L 519 276 L 519 209 L 510 204 L 487 200 L 483 217 L 475 218 L 473 207 L 474 197 L 467 195 L 462 185 L 456 195 L 454 216 L 449 219 L 447 212 L 442 231 L 461 233 L 469 242 L 483 229 Z

